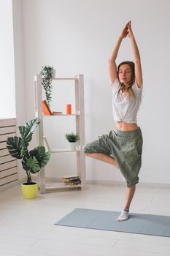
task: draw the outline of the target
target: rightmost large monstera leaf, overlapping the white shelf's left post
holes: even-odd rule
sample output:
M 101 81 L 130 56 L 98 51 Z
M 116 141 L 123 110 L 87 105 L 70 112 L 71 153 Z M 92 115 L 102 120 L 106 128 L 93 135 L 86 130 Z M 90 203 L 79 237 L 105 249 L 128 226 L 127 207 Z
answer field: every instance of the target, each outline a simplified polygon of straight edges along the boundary
M 41 168 L 45 167 L 45 165 L 47 165 L 47 162 L 50 159 L 50 151 L 45 152 L 44 146 L 38 146 L 34 148 L 34 150 L 30 151 L 29 153 L 32 157 L 33 156 L 36 157 Z

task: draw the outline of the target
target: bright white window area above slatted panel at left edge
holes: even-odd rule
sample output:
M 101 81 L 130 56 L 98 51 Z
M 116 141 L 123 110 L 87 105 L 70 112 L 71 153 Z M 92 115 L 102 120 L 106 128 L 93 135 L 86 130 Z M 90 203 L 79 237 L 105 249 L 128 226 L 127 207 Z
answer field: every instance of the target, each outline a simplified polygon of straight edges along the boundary
M 0 0 L 0 118 L 15 118 L 12 0 Z

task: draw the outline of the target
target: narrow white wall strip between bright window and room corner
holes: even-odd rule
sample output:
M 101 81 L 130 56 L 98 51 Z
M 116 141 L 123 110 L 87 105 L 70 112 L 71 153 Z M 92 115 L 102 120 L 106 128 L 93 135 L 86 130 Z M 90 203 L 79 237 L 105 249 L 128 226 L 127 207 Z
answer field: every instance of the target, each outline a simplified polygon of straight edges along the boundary
M 25 124 L 26 119 L 26 86 L 23 44 L 23 5 L 22 0 L 12 1 L 13 12 L 13 48 L 15 63 L 15 109 L 18 125 Z M 18 132 L 18 129 L 17 129 Z M 19 133 L 19 132 L 18 132 Z M 19 135 L 19 134 L 18 134 Z M 19 178 L 26 177 L 21 161 L 18 160 Z

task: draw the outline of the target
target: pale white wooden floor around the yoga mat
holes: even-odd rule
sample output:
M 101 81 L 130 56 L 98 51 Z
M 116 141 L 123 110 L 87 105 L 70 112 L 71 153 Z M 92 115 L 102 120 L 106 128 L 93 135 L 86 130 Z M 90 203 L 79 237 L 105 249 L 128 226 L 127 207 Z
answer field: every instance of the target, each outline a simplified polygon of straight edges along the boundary
M 121 211 L 124 187 L 88 185 L 23 199 L 20 187 L 0 193 L 0 256 L 161 256 L 170 238 L 55 226 L 74 208 Z M 170 189 L 137 187 L 131 211 L 170 214 Z M 115 220 L 116 221 L 116 220 Z

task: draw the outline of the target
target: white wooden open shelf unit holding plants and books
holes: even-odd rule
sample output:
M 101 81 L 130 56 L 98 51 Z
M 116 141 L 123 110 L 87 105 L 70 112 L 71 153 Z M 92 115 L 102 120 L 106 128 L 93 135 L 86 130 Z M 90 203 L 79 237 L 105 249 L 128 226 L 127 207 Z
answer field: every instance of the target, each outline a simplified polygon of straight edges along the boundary
M 84 75 L 80 74 L 74 78 L 53 78 L 53 80 L 74 80 L 75 91 L 75 114 L 52 115 L 48 116 L 59 118 L 62 116 L 75 116 L 76 132 L 80 135 L 80 145 L 76 150 L 66 149 L 50 149 L 51 154 L 61 154 L 63 152 L 75 152 L 77 155 L 77 175 L 81 178 L 81 184 L 77 186 L 66 185 L 64 183 L 47 183 L 45 181 L 45 167 L 38 173 L 39 189 L 41 193 L 53 192 L 63 189 L 85 189 L 85 155 L 82 153 L 82 146 L 85 144 L 85 111 L 84 111 Z M 35 116 L 40 119 L 38 127 L 37 140 L 39 146 L 45 145 L 44 129 L 43 129 L 43 113 L 42 113 L 42 77 L 40 74 L 35 76 Z M 47 146 L 47 145 L 46 145 Z M 64 173 L 63 173 L 64 176 Z

